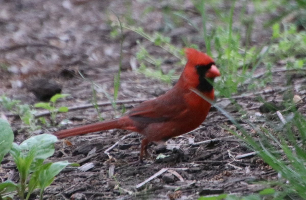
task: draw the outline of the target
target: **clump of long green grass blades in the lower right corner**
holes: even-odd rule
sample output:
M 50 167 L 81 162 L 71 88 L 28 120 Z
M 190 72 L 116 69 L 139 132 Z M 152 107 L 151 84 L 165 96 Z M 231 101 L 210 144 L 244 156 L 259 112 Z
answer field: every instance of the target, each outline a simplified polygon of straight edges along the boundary
M 280 180 L 288 181 L 288 184 L 284 184 L 282 181 L 274 183 L 282 187 L 282 191 L 273 194 L 274 199 L 283 199 L 285 196 L 291 199 L 306 199 L 305 117 L 295 112 L 294 117 L 286 122 L 280 131 L 271 131 L 263 127 L 256 129 L 254 125 L 249 123 L 260 136 L 259 142 L 250 136 L 233 118 L 230 118 L 230 120 L 242 134 L 229 131 L 248 144 L 252 151 L 257 152 L 257 155 L 278 172 L 281 176 Z M 297 198 L 297 196 L 300 198 Z

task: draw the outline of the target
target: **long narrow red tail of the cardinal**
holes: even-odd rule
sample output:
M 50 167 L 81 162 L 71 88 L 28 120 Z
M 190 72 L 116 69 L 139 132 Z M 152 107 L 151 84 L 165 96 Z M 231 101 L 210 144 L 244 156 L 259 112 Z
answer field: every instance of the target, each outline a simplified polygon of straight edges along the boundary
M 122 124 L 119 122 L 118 119 L 114 119 L 111 121 L 96 122 L 94 124 L 88 124 L 72 129 L 61 130 L 53 134 L 57 136 L 58 139 L 61 139 L 69 136 L 82 135 L 85 133 L 92 133 L 96 131 L 104 131 L 109 129 L 120 129 L 120 128 L 122 128 Z

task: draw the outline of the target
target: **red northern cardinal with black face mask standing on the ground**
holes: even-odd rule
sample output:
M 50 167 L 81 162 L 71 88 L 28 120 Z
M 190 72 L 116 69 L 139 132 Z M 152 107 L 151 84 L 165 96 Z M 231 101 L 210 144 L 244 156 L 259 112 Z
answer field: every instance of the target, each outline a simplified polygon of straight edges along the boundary
M 139 158 L 142 162 L 149 142 L 166 141 L 197 128 L 205 120 L 211 104 L 191 90 L 196 89 L 213 100 L 211 83 L 220 72 L 207 54 L 192 48 L 186 48 L 185 54 L 186 66 L 177 83 L 165 94 L 142 102 L 118 119 L 61 130 L 54 135 L 65 138 L 108 129 L 138 132 L 145 136 Z

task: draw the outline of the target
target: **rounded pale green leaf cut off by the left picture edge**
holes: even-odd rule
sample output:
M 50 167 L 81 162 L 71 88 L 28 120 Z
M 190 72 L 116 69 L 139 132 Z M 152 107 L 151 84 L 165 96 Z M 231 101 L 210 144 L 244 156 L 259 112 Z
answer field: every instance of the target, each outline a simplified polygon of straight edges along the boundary
M 11 126 L 6 120 L 0 118 L 0 162 L 11 149 L 13 140 L 14 134 Z

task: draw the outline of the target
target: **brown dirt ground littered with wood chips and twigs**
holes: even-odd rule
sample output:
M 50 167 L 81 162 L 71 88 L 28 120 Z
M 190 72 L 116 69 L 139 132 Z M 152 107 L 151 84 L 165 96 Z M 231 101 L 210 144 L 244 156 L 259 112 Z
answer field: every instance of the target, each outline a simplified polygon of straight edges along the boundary
M 91 82 L 88 81 L 91 80 L 99 85 L 95 87 L 97 101 L 107 102 L 103 90 L 113 94 L 113 77 L 118 71 L 120 56 L 120 34 L 111 36 L 111 24 L 117 21 L 114 13 L 125 15 L 125 19 L 130 17 L 136 26 L 144 27 L 148 33 L 164 31 L 178 48 L 183 47 L 184 40 L 187 40 L 204 49 L 199 32 L 187 21 L 181 20 L 177 27 L 171 27 L 167 22 L 163 8 L 184 8 L 189 19 L 200 27 L 200 13 L 191 2 L 180 2 L 161 1 L 157 5 L 153 1 L 0 0 L 0 94 L 5 93 L 12 99 L 21 100 L 22 104 L 33 105 L 39 100 L 29 90 L 33 84 L 40 85 L 35 80 L 43 78 L 54 81 L 62 87 L 62 93 L 71 95 L 60 100 L 59 105 L 80 106 L 91 104 L 93 100 Z M 226 9 L 230 5 L 224 6 Z M 148 8 L 150 12 L 146 11 Z M 241 9 L 239 3 L 236 9 Z M 252 14 L 251 4 L 248 9 Z M 212 10 L 209 10 L 208 17 L 216 18 Z M 262 29 L 263 19 L 271 16 L 261 17 L 256 18 L 252 43 L 267 41 L 271 35 L 269 29 Z M 237 16 L 234 16 L 234 27 L 238 26 L 235 19 Z M 242 27 L 242 35 L 244 31 Z M 118 100 L 131 100 L 125 104 L 128 110 L 143 99 L 154 98 L 172 86 L 132 70 L 135 53 L 140 48 L 137 40 L 149 53 L 163 59 L 162 70 L 165 73 L 176 68 L 179 75 L 183 66 L 174 67 L 179 61 L 176 57 L 133 31 L 124 30 L 124 38 Z M 275 66 L 273 81 L 264 89 L 235 95 L 233 100 L 217 98 L 217 104 L 256 136 L 246 122 L 265 125 L 268 117 L 259 110 L 262 104 L 257 100 L 258 96 L 267 101 L 282 101 L 282 94 L 288 90 L 284 80 L 290 79 L 293 93 L 305 98 L 305 89 L 300 89 L 305 84 L 305 78 L 290 72 L 285 76 L 282 69 L 282 64 Z M 77 71 L 81 71 L 87 80 L 81 78 Z M 259 67 L 256 75 L 260 78 L 261 73 L 263 70 Z M 239 112 L 233 101 L 246 112 Z M 118 107 L 121 108 L 121 105 Z M 110 105 L 100 107 L 106 120 L 120 116 L 120 110 L 114 111 Z M 306 107 L 300 105 L 299 110 L 305 113 Z M 0 111 L 7 116 L 17 133 L 16 142 L 32 135 L 52 134 L 59 129 L 98 121 L 94 108 L 79 108 L 58 115 L 57 122 L 68 119 L 68 125 L 43 126 L 30 132 L 24 129 L 17 116 L 4 108 Z M 280 122 L 275 113 L 271 116 L 278 125 Z M 61 140 L 56 143 L 56 151 L 50 161 L 68 160 L 88 168 L 64 169 L 46 189 L 45 199 L 196 199 L 201 195 L 255 193 L 265 187 L 258 182 L 277 179 L 277 173 L 259 157 L 245 155 L 252 151 L 225 127 L 235 130 L 224 115 L 212 108 L 206 121 L 192 133 L 170 139 L 164 144 L 151 144 L 148 150 L 152 158 L 145 159 L 144 164 L 137 162 L 142 136 L 136 133 L 110 130 Z M 104 151 L 117 141 L 118 145 L 106 155 Z M 155 159 L 159 154 L 166 157 Z M 239 158 L 236 157 L 238 155 L 245 156 Z M 9 157 L 4 159 L 0 169 L 2 180 L 18 180 L 16 166 Z M 163 173 L 136 188 L 136 185 L 160 170 Z M 38 193 L 31 199 L 36 199 L 36 195 Z

